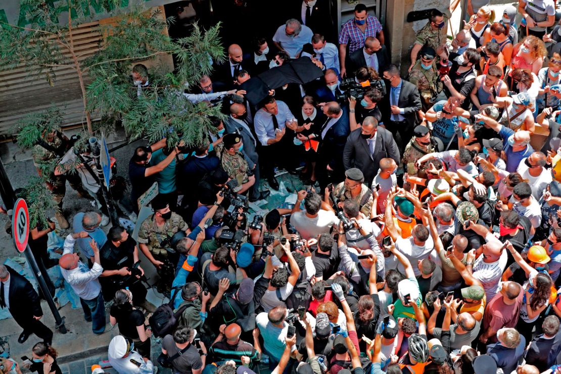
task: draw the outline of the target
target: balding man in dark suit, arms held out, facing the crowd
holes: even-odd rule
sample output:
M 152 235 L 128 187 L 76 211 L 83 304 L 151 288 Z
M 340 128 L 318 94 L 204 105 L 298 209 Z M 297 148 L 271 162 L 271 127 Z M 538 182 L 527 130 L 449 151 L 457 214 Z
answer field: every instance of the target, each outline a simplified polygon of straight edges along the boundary
M 367 185 L 373 181 L 380 160 L 391 158 L 399 163 L 399 150 L 391 132 L 383 127 L 378 127 L 374 117 L 366 117 L 362 127 L 351 132 L 347 138 L 343 151 L 343 165 L 345 170 L 350 168 L 360 169 L 364 174 Z

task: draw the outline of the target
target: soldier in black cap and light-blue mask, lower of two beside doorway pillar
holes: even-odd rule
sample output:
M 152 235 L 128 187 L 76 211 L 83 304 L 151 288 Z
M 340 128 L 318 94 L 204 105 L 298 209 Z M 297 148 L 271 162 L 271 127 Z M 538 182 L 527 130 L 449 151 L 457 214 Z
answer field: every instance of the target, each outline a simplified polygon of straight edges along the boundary
M 422 111 L 429 110 L 442 91 L 442 82 L 436 70 L 436 51 L 431 47 L 423 47 L 420 51 L 421 58 L 417 60 L 409 75 L 409 81 L 417 86 L 421 95 Z

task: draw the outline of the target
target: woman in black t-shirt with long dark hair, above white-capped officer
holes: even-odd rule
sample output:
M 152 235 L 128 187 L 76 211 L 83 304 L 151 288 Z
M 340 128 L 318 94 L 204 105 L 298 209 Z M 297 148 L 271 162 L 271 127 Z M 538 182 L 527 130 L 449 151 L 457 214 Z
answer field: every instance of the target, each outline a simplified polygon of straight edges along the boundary
M 144 313 L 132 306 L 132 292 L 120 289 L 115 293 L 109 311 L 111 325 L 119 324 L 119 333 L 135 343 L 135 350 L 150 359 L 150 336 L 152 331 L 144 325 Z

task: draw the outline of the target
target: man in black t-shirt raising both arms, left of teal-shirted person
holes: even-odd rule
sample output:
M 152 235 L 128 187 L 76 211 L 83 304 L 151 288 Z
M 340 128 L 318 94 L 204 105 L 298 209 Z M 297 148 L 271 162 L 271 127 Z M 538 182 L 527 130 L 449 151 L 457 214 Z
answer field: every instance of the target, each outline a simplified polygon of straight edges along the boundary
M 152 157 L 152 153 L 163 148 L 165 146 L 165 141 L 166 139 L 163 138 L 151 146 L 136 147 L 135 154 L 132 155 L 132 158 L 128 163 L 128 178 L 130 179 L 132 186 L 131 203 L 136 213 L 139 211 L 137 199 L 142 195 L 142 193 L 148 191 L 152 184 L 154 184 L 156 180 L 155 174 L 165 169 L 165 167 L 167 167 L 179 153 L 177 147 L 175 147 L 165 159 L 160 161 L 160 163 L 147 167 L 150 162 L 150 158 Z

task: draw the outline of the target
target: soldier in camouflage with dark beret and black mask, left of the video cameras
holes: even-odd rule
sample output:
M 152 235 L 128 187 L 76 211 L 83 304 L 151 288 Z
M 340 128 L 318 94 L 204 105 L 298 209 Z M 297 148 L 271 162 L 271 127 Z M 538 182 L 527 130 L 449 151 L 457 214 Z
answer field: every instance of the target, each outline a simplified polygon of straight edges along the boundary
M 167 202 L 159 197 L 152 201 L 152 208 L 154 214 L 142 221 L 137 241 L 142 253 L 158 271 L 159 292 L 165 293 L 173 283 L 178 261 L 177 254 L 169 253 L 167 248 L 174 251 L 171 238 L 180 231 L 186 231 L 188 227 L 183 218 L 169 210 Z

